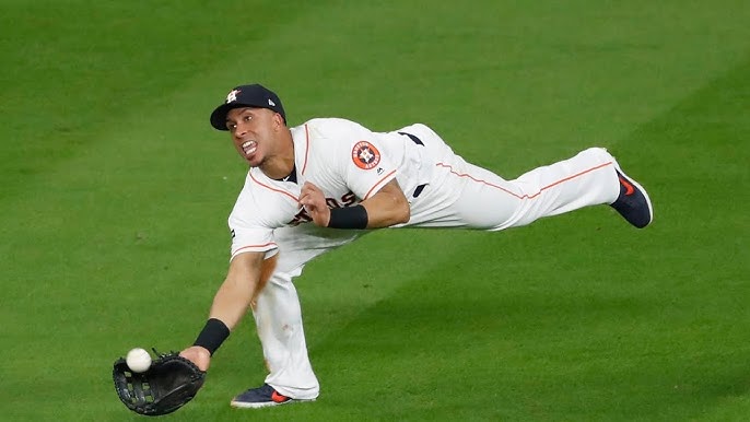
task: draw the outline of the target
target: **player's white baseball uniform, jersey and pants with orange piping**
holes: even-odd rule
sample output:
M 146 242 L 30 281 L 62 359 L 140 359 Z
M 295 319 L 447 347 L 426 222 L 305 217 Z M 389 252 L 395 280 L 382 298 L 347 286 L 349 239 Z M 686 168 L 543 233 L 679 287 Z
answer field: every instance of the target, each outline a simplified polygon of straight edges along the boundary
M 401 226 L 499 231 L 587 206 L 611 203 L 620 192 L 616 161 L 591 148 L 515 180 L 467 163 L 429 127 L 417 124 L 372 132 L 344 119 L 313 119 L 291 129 L 295 173 L 286 180 L 250 168 L 230 215 L 232 257 L 279 253 L 277 269 L 258 296 L 254 316 L 270 374 L 280 394 L 312 399 L 319 385 L 305 343 L 292 279 L 307 261 L 367 231 L 318 227 L 298 204 L 305 181 L 329 207 L 348 207 L 396 178 L 411 218 Z

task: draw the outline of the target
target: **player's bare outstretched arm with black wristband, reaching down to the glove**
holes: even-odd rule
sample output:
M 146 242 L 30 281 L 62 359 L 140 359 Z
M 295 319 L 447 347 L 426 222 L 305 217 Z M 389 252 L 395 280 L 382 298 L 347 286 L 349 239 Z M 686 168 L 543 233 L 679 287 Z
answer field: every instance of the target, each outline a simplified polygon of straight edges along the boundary
M 263 257 L 265 253 L 245 253 L 232 259 L 226 279 L 213 297 L 206 327 L 194 345 L 180 352 L 183 357 L 192 361 L 201 371 L 209 368 L 213 352 L 245 316 L 258 291 L 262 289 L 260 279 Z

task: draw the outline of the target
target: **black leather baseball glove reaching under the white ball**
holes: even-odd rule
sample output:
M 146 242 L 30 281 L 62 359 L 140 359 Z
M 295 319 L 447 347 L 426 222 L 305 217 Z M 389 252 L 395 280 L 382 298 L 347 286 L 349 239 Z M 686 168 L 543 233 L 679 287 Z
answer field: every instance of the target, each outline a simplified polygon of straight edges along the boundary
M 175 352 L 160 354 L 143 373 L 130 371 L 125 359 L 115 361 L 115 390 L 128 409 L 148 417 L 172 413 L 190 401 L 206 373 Z

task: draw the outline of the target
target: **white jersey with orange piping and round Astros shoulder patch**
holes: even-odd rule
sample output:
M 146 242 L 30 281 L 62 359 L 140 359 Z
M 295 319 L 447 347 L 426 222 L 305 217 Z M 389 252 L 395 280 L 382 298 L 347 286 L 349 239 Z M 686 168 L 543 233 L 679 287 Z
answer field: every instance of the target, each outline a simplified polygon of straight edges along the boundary
M 257 167 L 249 169 L 228 219 L 232 257 L 244 251 L 270 256 L 278 248 L 276 228 L 310 223 L 298 203 L 305 181 L 317 186 L 331 208 L 356 204 L 394 178 L 407 198 L 412 197 L 430 181 L 433 167 L 423 165 L 424 143 L 408 129 L 373 132 L 338 118 L 313 119 L 291 128 L 294 177 L 276 180 Z

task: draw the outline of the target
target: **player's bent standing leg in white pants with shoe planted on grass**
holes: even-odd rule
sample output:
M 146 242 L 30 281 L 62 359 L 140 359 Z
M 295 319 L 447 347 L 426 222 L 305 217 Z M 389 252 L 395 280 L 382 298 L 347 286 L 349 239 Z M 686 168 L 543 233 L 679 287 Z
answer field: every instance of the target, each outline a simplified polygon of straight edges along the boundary
M 261 408 L 314 400 L 319 384 L 307 355 L 300 297 L 292 282 L 313 258 L 356 238 L 361 232 L 321 231 L 313 224 L 274 232 L 277 268 L 258 294 L 253 316 L 269 374 L 265 385 L 232 400 L 232 406 Z

